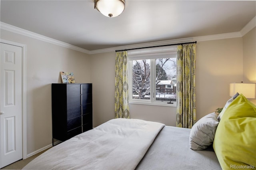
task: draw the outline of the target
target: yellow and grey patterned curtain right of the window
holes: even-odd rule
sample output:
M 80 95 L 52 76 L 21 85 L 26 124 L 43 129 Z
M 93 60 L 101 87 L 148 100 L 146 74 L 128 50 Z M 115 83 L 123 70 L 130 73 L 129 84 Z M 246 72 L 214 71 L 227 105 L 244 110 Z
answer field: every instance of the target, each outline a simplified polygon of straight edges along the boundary
M 192 128 L 196 122 L 196 44 L 178 45 L 176 126 Z

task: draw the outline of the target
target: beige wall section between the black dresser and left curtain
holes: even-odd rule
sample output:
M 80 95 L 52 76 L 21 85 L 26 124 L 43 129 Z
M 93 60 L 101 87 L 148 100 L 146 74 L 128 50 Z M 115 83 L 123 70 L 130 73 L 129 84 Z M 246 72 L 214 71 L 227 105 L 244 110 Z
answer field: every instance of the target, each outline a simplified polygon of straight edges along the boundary
M 116 52 L 91 55 L 93 126 L 115 118 Z

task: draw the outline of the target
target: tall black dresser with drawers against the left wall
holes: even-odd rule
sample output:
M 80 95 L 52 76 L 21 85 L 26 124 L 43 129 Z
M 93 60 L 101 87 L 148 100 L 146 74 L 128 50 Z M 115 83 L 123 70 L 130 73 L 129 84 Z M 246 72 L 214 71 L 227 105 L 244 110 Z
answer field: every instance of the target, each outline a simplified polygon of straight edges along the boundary
M 92 84 L 52 84 L 52 143 L 92 129 Z

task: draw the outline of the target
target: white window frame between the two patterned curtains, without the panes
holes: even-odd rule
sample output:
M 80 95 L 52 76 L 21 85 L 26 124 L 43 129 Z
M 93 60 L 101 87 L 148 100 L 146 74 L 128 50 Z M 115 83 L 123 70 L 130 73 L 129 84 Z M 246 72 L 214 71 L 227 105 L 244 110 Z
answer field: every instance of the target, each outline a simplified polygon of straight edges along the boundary
M 176 107 L 176 101 L 172 101 L 173 104 L 168 104 L 168 101 L 155 100 L 156 81 L 152 80 L 156 80 L 156 59 L 158 58 L 177 58 L 177 45 L 128 51 L 128 84 L 131 87 L 129 88 L 129 103 Z M 132 99 L 132 61 L 141 59 L 150 59 L 150 100 Z

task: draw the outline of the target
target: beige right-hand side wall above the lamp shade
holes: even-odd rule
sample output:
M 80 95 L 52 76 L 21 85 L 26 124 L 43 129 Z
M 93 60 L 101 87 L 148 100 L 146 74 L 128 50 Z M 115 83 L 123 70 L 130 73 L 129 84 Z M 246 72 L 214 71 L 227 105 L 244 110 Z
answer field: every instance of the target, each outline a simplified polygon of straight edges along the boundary
M 243 81 L 256 83 L 256 27 L 243 37 Z M 256 99 L 250 99 L 256 104 Z

